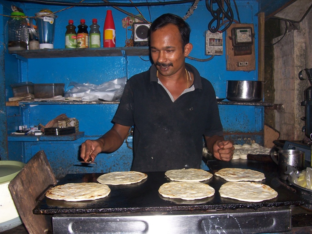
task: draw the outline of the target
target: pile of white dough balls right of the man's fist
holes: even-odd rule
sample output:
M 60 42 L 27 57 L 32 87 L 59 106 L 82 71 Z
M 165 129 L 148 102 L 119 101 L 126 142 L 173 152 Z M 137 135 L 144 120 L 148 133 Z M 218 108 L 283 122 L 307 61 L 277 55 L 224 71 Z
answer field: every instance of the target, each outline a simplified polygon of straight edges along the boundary
M 250 144 L 234 144 L 233 159 L 247 159 L 247 154 L 270 154 L 269 148 L 265 148 L 257 143 Z

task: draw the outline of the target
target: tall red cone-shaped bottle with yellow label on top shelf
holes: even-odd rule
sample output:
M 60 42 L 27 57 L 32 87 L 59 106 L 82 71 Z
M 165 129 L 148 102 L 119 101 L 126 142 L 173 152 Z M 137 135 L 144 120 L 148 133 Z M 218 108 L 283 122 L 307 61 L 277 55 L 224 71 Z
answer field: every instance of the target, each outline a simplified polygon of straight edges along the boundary
M 116 47 L 115 23 L 111 10 L 107 10 L 106 12 L 103 33 L 103 46 Z

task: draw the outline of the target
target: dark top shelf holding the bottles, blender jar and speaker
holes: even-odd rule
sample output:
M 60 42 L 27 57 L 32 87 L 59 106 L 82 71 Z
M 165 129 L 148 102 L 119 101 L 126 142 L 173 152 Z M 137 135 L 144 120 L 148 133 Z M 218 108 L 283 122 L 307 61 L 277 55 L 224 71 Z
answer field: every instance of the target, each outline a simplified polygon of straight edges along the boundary
M 68 58 L 68 57 L 105 57 L 105 56 L 148 56 L 149 47 L 112 47 L 86 49 L 40 49 L 10 51 L 24 58 Z

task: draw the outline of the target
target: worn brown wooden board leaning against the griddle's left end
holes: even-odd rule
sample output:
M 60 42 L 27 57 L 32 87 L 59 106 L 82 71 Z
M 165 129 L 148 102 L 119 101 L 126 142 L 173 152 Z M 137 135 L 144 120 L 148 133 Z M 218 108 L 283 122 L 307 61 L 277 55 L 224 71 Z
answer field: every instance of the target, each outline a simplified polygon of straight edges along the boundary
M 56 184 L 56 178 L 43 150 L 35 154 L 9 184 L 17 211 L 31 234 L 53 233 L 52 216 L 32 212 L 38 196 L 51 184 Z

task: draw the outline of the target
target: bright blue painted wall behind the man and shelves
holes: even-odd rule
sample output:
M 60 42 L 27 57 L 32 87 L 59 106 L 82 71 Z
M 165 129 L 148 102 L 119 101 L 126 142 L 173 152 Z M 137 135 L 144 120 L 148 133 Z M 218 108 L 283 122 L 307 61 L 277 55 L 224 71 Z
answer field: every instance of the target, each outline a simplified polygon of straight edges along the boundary
M 137 2 L 137 1 L 134 1 Z M 9 15 L 12 2 L 0 1 L 2 3 L 1 12 Z M 186 61 L 197 67 L 201 75 L 211 81 L 219 98 L 226 97 L 226 80 L 256 80 L 257 79 L 257 56 L 258 56 L 258 25 L 257 16 L 258 3 L 256 1 L 236 1 L 242 23 L 253 23 L 256 37 L 256 70 L 250 72 L 244 71 L 226 71 L 225 54 L 215 56 L 212 60 L 198 62 L 186 59 Z M 19 4 L 14 2 L 13 4 Z M 140 12 L 147 20 L 153 21 L 163 13 L 174 13 L 181 17 L 185 15 L 192 3 L 169 6 L 138 7 Z M 42 8 L 49 8 L 52 11 L 58 11 L 66 7 L 47 6 L 29 3 L 20 3 L 27 16 L 34 16 Z M 133 14 L 138 14 L 134 7 L 121 7 Z M 113 7 L 73 7 L 56 13 L 56 33 L 54 48 L 64 48 L 64 34 L 69 19 L 73 19 L 75 25 L 79 24 L 80 19 L 84 18 L 88 25 L 92 18 L 98 19 L 100 29 L 103 30 L 106 10 L 113 12 L 116 27 L 116 45 L 124 46 L 126 35 L 128 39 L 131 36 L 129 27 L 122 27 L 121 19 L 126 17 Z M 236 17 L 235 7 L 232 3 L 232 9 Z M 150 16 L 149 16 L 150 15 Z M 132 75 L 145 71 L 151 65 L 149 56 L 129 56 L 127 60 L 120 57 L 76 57 L 76 58 L 40 58 L 24 59 L 19 56 L 8 54 L 7 47 L 7 29 L 6 22 L 8 17 L 1 16 L 3 28 L 0 28 L 4 44 L 0 45 L 2 53 L 1 59 L 4 59 L 5 65 L 2 69 L 1 82 L 5 87 L 5 100 L 12 97 L 10 85 L 12 83 L 31 81 L 33 83 L 65 83 L 65 90 L 71 81 L 79 83 L 90 82 L 99 85 L 105 81 Z M 200 1 L 197 9 L 186 22 L 191 26 L 190 42 L 193 43 L 193 51 L 190 56 L 206 59 L 210 56 L 205 55 L 205 31 L 207 25 L 212 19 L 208 12 L 205 2 Z M 225 33 L 223 35 L 225 38 Z M 224 45 L 225 50 L 225 45 Z M 3 68 L 3 66 L 2 66 Z M 3 94 L 2 94 L 3 98 Z M 113 118 L 117 104 L 111 105 L 25 105 L 20 107 L 5 107 L 2 102 L 0 119 L 7 125 L 7 129 L 1 131 L 1 158 L 2 160 L 18 160 L 27 163 L 27 161 L 37 151 L 43 149 L 52 165 L 56 175 L 76 172 L 109 172 L 114 170 L 128 170 L 132 160 L 132 150 L 124 144 L 113 154 L 103 154 L 99 157 L 97 166 L 81 167 L 76 166 L 79 155 L 79 146 L 86 139 L 96 139 L 111 128 L 111 119 Z M 263 107 L 255 106 L 237 106 L 237 105 L 219 105 L 220 115 L 224 131 L 227 138 L 234 139 L 235 143 L 255 141 L 263 144 Z M 27 124 L 34 126 L 39 123 L 46 124 L 57 115 L 65 113 L 68 117 L 76 117 L 79 120 L 80 131 L 85 132 L 85 136 L 75 141 L 51 141 L 51 142 L 28 142 L 28 141 L 7 141 L 7 134 L 15 131 L 19 125 Z M 7 144 L 6 144 L 7 142 Z M 91 168 L 91 169 L 90 169 Z

